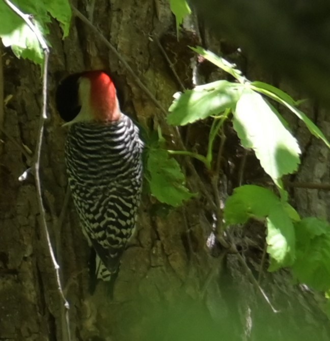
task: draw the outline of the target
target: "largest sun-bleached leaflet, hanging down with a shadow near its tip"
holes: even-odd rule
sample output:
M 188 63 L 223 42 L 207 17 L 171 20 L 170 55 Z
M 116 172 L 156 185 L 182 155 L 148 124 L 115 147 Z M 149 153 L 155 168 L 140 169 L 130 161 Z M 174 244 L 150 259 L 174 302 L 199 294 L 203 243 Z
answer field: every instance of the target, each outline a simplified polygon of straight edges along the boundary
M 258 93 L 244 89 L 234 111 L 233 126 L 245 148 L 252 148 L 274 182 L 300 163 L 296 139 Z

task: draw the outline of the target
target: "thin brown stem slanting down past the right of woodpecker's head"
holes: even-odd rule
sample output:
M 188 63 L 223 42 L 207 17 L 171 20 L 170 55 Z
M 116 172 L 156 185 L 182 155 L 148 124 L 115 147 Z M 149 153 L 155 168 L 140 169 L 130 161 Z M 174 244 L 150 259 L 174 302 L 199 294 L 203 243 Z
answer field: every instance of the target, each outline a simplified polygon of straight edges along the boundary
M 161 111 L 161 113 L 163 115 L 159 115 L 156 112 L 156 116 L 160 122 L 160 124 L 162 125 L 167 125 L 165 117 L 167 116 L 168 112 L 166 109 L 164 109 L 164 107 L 161 105 L 161 103 L 156 99 L 156 97 L 151 93 L 151 91 L 141 82 L 140 78 L 136 75 L 136 73 L 133 71 L 133 69 L 129 66 L 129 64 L 126 62 L 126 60 L 124 59 L 124 57 L 122 57 L 120 55 L 120 53 L 117 51 L 117 49 L 111 44 L 111 42 L 109 42 L 104 36 L 103 34 L 90 22 L 90 20 L 88 20 L 86 18 L 86 16 L 84 14 L 82 14 L 80 11 L 78 11 L 72 4 L 71 4 L 71 8 L 73 13 L 82 21 L 84 22 L 90 29 L 92 32 L 94 32 L 98 38 L 108 47 L 109 50 L 111 50 L 113 52 L 113 54 L 118 58 L 118 60 L 124 65 L 124 67 L 126 68 L 126 70 L 129 72 L 129 74 L 133 77 L 133 80 L 135 81 L 135 83 L 148 95 L 148 97 L 150 98 L 150 100 L 155 104 L 155 106 Z M 181 150 L 186 150 L 181 136 L 178 132 L 177 128 L 172 128 L 169 127 L 170 129 L 170 133 L 173 135 L 174 140 L 176 141 L 178 148 Z M 207 199 L 208 204 L 211 206 L 211 208 L 215 208 L 215 204 L 213 201 L 212 196 L 210 195 L 210 193 L 208 192 L 208 190 L 206 189 L 203 181 L 201 180 L 199 174 L 197 173 L 194 165 L 191 163 L 190 160 L 185 160 L 185 163 L 189 169 L 189 171 L 191 172 L 191 174 L 194 176 L 194 183 L 197 183 L 200 191 L 204 194 L 204 196 Z M 189 182 L 191 183 L 191 182 Z

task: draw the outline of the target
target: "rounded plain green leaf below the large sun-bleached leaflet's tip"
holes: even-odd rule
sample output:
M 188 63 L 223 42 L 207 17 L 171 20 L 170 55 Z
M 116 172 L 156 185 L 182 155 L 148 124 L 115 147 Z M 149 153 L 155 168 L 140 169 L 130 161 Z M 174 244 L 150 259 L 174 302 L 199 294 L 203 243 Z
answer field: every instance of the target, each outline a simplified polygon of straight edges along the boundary
M 279 203 L 280 199 L 266 188 L 244 185 L 235 188 L 233 195 L 227 199 L 224 218 L 227 225 L 243 224 L 252 217 L 262 219 Z

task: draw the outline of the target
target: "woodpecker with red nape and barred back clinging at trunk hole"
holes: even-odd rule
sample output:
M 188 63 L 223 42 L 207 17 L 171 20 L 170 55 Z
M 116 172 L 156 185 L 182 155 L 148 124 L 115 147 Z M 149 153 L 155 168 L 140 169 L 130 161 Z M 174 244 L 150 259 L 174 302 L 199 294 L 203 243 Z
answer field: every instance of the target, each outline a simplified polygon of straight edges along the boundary
M 142 186 L 143 143 L 102 71 L 65 78 L 57 109 L 69 125 L 66 166 L 82 229 L 96 251 L 97 278 L 109 280 L 132 235 Z

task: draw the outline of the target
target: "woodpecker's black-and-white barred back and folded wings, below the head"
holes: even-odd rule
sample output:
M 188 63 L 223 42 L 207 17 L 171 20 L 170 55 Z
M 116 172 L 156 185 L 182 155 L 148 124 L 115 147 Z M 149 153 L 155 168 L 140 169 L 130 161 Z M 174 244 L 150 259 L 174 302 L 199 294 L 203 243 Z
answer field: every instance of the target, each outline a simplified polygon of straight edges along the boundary
M 80 221 L 110 272 L 135 227 L 142 186 L 143 144 L 130 118 L 76 123 L 66 143 L 69 185 Z M 99 277 L 100 276 L 98 273 Z

